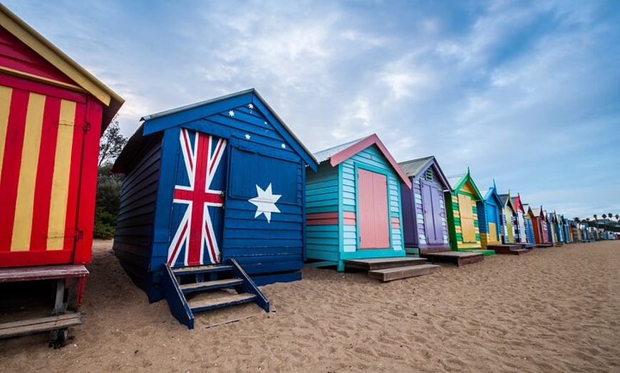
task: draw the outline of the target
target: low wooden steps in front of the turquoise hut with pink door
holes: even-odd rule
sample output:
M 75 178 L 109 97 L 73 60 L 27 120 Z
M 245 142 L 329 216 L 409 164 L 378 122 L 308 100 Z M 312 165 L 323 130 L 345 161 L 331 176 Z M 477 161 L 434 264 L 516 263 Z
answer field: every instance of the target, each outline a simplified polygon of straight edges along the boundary
M 428 264 L 426 259 L 410 257 L 350 259 L 344 261 L 344 265 L 348 268 L 368 270 L 369 278 L 376 278 L 384 283 L 401 278 L 428 275 L 440 268 L 440 266 Z

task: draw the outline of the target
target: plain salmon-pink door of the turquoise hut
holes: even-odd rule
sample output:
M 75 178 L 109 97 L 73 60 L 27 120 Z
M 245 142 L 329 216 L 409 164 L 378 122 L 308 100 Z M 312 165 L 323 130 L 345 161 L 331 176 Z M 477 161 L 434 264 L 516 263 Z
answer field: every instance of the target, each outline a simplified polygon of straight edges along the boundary
M 389 248 L 388 179 L 358 169 L 359 248 Z

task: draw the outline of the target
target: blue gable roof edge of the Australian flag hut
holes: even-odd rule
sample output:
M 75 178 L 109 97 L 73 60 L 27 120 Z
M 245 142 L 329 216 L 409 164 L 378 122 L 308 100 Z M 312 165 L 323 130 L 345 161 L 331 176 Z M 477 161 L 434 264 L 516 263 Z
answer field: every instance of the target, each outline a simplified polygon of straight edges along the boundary
M 262 111 L 262 114 L 265 115 L 273 125 L 274 130 L 286 140 L 289 140 L 289 145 L 299 154 L 301 159 L 304 159 L 304 162 L 306 162 L 311 169 L 316 171 L 318 162 L 316 162 L 312 153 L 254 88 L 223 95 L 210 100 L 200 101 L 199 103 L 175 107 L 174 109 L 156 112 L 151 115 L 145 115 L 140 118 L 143 122 L 143 135 L 151 135 L 170 127 L 177 127 L 184 123 L 191 122 L 192 120 L 198 120 L 249 103 Z

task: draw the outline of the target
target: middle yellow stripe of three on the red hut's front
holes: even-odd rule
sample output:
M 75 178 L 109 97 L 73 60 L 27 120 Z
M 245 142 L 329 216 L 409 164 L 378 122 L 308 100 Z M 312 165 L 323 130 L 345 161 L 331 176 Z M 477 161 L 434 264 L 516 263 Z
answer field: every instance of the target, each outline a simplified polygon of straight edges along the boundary
M 24 148 L 21 151 L 11 251 L 28 251 L 30 248 L 34 187 L 36 186 L 36 168 L 41 147 L 44 110 L 45 96 L 31 93 L 28 99 L 28 112 L 26 112 Z

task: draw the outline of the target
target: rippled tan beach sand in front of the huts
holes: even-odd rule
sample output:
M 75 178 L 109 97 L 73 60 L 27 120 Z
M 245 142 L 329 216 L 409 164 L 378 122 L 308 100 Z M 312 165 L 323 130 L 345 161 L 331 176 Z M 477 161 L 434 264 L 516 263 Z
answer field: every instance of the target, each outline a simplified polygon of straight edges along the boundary
M 203 312 L 194 330 L 149 304 L 110 248 L 95 242 L 68 345 L 0 340 L 0 372 L 620 372 L 620 241 L 391 283 L 308 267 L 262 287 L 274 312 Z

